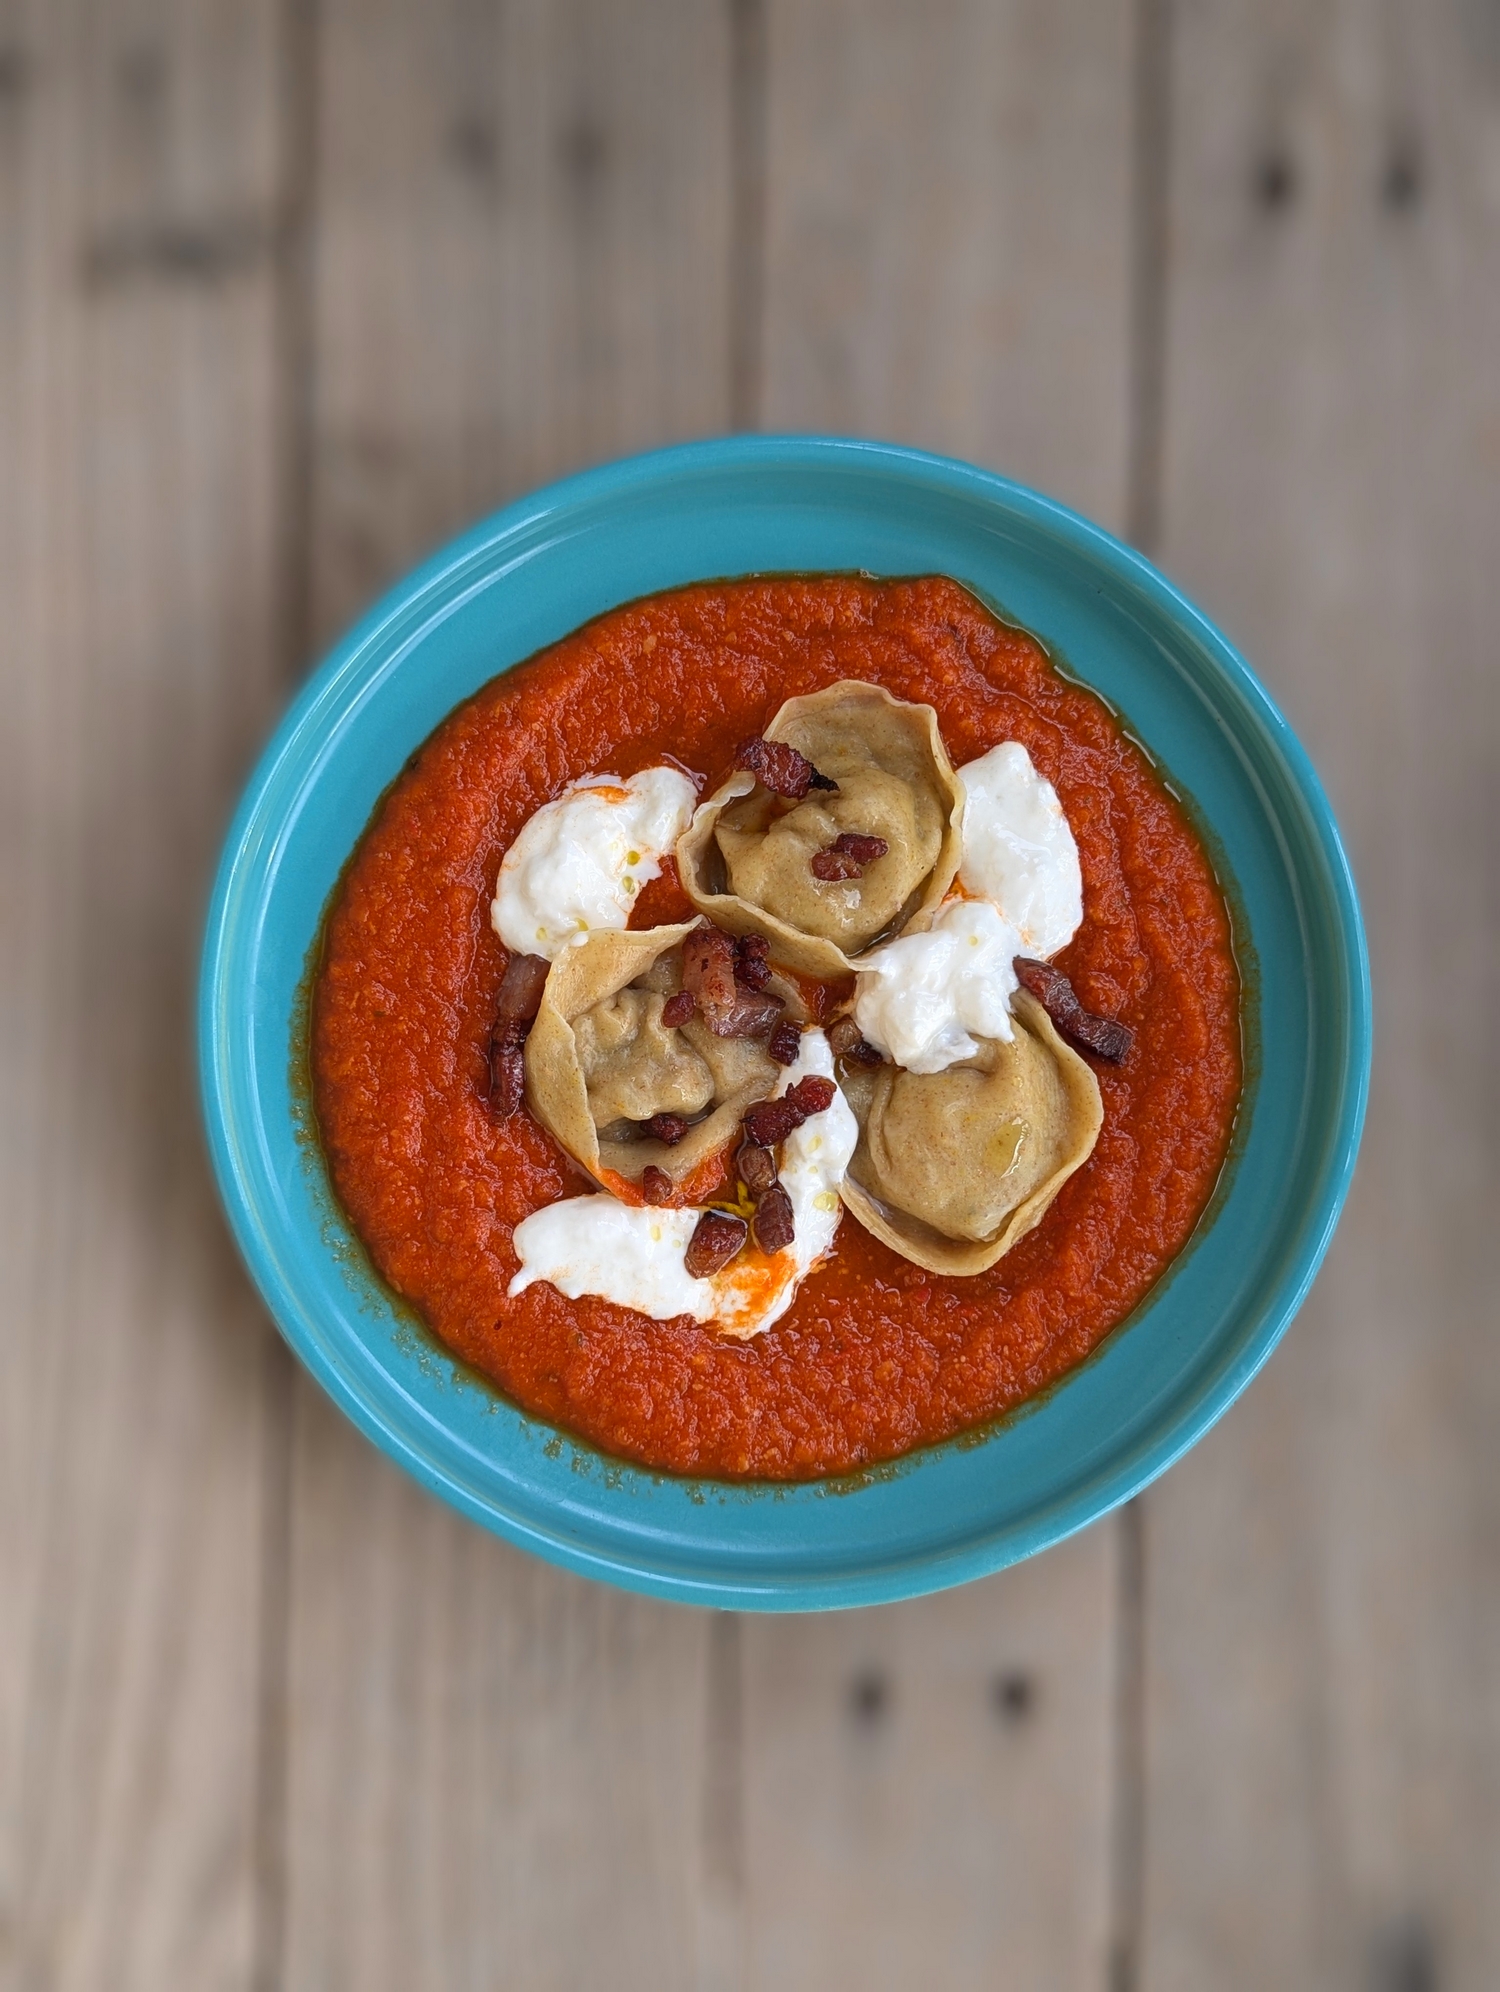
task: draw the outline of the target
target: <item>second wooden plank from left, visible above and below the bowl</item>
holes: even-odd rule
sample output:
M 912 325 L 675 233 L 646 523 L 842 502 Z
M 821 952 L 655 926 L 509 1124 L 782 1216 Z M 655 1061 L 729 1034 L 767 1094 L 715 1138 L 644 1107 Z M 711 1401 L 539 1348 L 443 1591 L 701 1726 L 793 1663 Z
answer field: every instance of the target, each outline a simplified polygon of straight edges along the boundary
M 331 0 L 317 623 L 486 506 L 729 422 L 729 20 Z M 697 1980 L 711 1619 L 566 1578 L 299 1386 L 289 1988 Z

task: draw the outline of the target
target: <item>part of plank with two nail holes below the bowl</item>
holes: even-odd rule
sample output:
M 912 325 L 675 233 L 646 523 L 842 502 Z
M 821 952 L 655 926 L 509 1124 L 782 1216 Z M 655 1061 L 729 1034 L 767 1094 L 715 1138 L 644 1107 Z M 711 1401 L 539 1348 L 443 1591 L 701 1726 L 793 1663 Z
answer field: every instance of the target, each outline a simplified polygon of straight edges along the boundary
M 753 1986 L 1104 1986 L 1112 1540 L 745 1621 Z

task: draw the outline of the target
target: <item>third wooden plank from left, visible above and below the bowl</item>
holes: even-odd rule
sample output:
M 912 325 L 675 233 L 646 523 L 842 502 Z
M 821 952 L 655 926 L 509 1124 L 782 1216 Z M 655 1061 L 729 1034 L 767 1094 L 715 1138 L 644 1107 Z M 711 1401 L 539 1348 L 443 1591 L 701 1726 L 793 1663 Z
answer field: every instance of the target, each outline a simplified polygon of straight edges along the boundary
M 894 436 L 1120 526 L 1124 4 L 773 4 L 767 428 Z M 1098 1986 L 1116 1524 L 964 1592 L 743 1627 L 755 1986 Z

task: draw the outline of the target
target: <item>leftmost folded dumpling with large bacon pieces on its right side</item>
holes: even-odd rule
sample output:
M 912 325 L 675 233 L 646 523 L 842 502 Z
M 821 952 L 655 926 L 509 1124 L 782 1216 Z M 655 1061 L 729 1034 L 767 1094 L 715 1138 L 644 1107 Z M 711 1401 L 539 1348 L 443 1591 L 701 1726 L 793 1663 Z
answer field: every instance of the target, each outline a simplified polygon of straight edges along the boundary
M 781 1074 L 759 1038 L 719 1038 L 701 1016 L 663 1024 L 681 988 L 681 942 L 697 924 L 602 930 L 564 948 L 526 1040 L 526 1104 L 616 1193 L 639 1187 L 647 1165 L 681 1191 Z M 791 988 L 775 992 L 789 1016 L 801 1014 Z M 691 1125 L 673 1143 L 655 1139 L 643 1123 L 657 1114 Z

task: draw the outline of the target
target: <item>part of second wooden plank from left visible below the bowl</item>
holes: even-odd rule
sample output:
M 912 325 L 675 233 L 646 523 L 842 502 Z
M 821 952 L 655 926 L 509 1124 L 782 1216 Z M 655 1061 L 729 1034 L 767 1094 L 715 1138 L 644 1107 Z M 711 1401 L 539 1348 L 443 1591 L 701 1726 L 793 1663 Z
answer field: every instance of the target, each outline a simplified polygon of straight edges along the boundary
M 287 1986 L 685 1986 L 705 1614 L 458 1522 L 297 1414 Z

